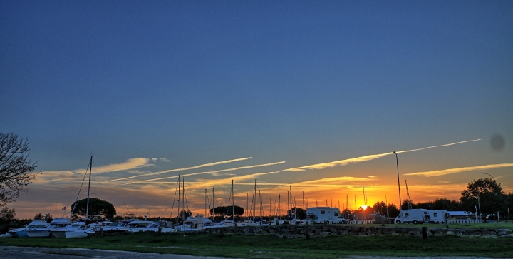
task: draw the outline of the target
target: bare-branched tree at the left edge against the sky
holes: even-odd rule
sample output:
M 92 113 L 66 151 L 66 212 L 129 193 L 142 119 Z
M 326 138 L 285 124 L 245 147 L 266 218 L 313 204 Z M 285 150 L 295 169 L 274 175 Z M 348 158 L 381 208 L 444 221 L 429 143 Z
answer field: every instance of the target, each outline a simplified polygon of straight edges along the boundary
M 36 178 L 36 163 L 28 158 L 28 140 L 0 132 L 0 207 L 12 203 Z M 39 172 L 41 173 L 41 172 Z

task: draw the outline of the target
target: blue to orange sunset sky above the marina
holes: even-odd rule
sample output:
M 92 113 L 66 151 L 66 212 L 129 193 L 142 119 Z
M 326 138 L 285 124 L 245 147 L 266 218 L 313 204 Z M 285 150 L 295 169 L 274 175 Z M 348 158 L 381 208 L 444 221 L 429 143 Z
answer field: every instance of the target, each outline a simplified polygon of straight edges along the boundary
M 90 156 L 119 215 L 513 191 L 512 1 L 0 1 L 0 131 L 60 216 Z M 397 151 L 397 158 L 393 151 Z M 81 185 L 83 183 L 83 187 Z M 363 188 L 367 200 L 365 200 Z M 80 190 L 80 193 L 79 193 Z M 207 204 L 207 207 L 209 205 Z M 210 204 L 212 206 L 212 204 Z M 66 207 L 66 210 L 61 210 Z M 270 208 L 269 208 L 270 207 Z

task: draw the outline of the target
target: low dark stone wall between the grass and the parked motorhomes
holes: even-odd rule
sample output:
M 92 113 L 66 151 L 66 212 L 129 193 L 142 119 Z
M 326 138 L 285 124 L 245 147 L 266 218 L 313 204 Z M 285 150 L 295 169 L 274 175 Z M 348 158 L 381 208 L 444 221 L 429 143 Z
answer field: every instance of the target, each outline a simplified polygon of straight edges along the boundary
M 366 227 L 358 225 L 273 225 L 246 226 L 228 228 L 207 228 L 208 234 L 241 233 L 242 235 L 276 235 L 280 238 L 314 238 L 326 235 L 421 235 L 422 228 L 404 227 Z M 505 236 L 513 235 L 511 229 L 480 228 L 427 228 L 427 235 L 475 235 Z

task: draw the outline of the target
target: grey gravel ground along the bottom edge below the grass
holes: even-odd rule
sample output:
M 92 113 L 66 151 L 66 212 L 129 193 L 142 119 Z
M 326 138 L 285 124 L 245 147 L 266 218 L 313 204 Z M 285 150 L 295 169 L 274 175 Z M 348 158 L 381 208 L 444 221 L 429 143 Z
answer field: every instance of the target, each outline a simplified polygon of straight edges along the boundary
M 191 255 L 161 255 L 158 253 L 137 253 L 113 250 L 97 250 L 84 248 L 26 248 L 20 246 L 0 245 L 0 258 L 12 259 L 61 259 L 61 258 L 108 258 L 108 259 L 223 259 L 220 257 L 191 256 Z M 348 259 L 407 259 L 411 257 L 389 257 L 389 256 L 349 256 Z M 416 257 L 415 259 L 492 259 L 484 257 Z M 228 258 L 226 258 L 228 259 Z

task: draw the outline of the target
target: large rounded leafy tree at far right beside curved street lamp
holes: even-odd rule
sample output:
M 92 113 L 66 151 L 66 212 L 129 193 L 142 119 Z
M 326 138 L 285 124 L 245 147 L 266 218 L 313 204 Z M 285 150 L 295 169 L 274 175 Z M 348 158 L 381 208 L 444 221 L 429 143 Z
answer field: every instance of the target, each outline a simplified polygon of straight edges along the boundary
M 504 211 L 506 206 L 506 195 L 502 187 L 496 181 L 484 178 L 477 179 L 468 184 L 467 189 L 462 191 L 460 198 L 462 208 L 467 211 L 474 211 L 479 196 L 481 213 L 483 215 Z

